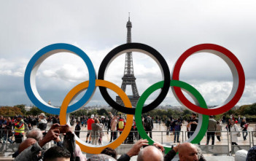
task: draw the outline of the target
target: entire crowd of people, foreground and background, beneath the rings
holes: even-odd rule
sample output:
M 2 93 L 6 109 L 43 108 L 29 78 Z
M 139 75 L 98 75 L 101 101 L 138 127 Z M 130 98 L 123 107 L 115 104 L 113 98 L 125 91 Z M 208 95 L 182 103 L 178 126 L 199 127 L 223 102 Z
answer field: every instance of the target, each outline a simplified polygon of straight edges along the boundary
M 144 125 L 144 130 L 149 134 L 150 138 L 152 138 L 152 129 L 154 128 L 153 118 L 150 117 L 149 114 L 147 114 L 147 117 L 141 117 L 141 120 Z M 159 121 L 160 120 L 158 120 L 158 122 Z M 47 156 L 49 156 L 50 158 L 52 158 L 53 156 L 58 157 L 58 156 L 62 156 L 62 154 L 64 153 L 66 155 L 63 155 L 63 157 L 66 157 L 69 159 L 73 158 L 75 160 L 75 156 L 82 155 L 82 152 L 79 149 L 79 146 L 74 146 L 74 143 L 69 143 L 69 144 L 63 143 L 65 142 L 65 137 L 71 134 L 64 136 L 64 139 L 61 139 L 59 136 L 61 136 L 61 133 L 70 133 L 71 128 L 68 127 L 68 125 L 66 125 L 66 130 L 64 128 L 60 128 L 62 126 L 59 125 L 59 122 L 60 121 L 59 121 L 58 115 L 56 115 L 55 117 L 46 117 L 43 113 L 39 114 L 39 116 L 36 116 L 36 117 L 34 116 L 23 117 L 21 115 L 18 115 L 15 117 L 1 116 L 0 117 L 0 141 L 2 143 L 9 141 L 9 143 L 11 144 L 13 143 L 20 144 L 18 152 L 15 152 L 15 154 L 13 154 L 13 156 L 16 157 L 17 160 L 20 160 L 20 158 L 30 159 L 34 157 L 35 154 L 36 154 L 36 160 L 50 160 L 50 159 L 47 159 Z M 50 130 L 47 130 L 47 123 L 50 123 L 48 125 L 53 125 L 52 127 L 50 127 Z M 92 114 L 90 117 L 84 117 L 84 116 L 71 117 L 70 125 L 74 125 L 74 134 L 76 134 L 77 137 L 79 137 L 79 133 L 82 127 L 84 126 L 87 127 L 88 133 L 87 133 L 85 142 L 87 144 L 101 145 L 102 138 L 104 137 L 105 134 L 108 135 L 110 133 L 109 142 L 112 142 L 117 138 L 118 134 L 120 135 L 123 132 L 126 125 L 126 119 L 122 115 L 113 115 L 111 113 L 109 113 L 109 117 L 99 117 L 97 115 Z M 191 114 L 190 119 L 187 121 L 182 120 L 182 117 L 179 117 L 179 118 L 169 117 L 168 119 L 166 119 L 166 135 L 169 135 L 169 133 L 170 134 L 173 133 L 174 143 L 180 142 L 179 133 L 182 130 L 182 125 L 185 125 L 185 127 L 187 127 L 187 137 L 190 138 L 195 132 L 195 129 L 198 125 L 197 115 Z M 212 138 L 212 145 L 214 145 L 215 136 L 217 136 L 218 141 L 221 141 L 222 127 L 225 127 L 225 129 L 228 132 L 230 132 L 231 144 L 238 145 L 237 144 L 238 137 L 241 136 L 241 133 L 243 135 L 244 141 L 247 140 L 248 126 L 249 126 L 249 123 L 246 122 L 246 119 L 241 118 L 240 116 L 235 118 L 233 117 L 233 115 L 231 115 L 230 118 L 222 117 L 217 121 L 214 119 L 213 116 L 210 116 L 208 131 L 206 133 L 206 139 L 207 139 L 206 145 L 209 145 L 209 141 L 211 138 Z M 26 140 L 23 141 L 26 130 L 28 130 L 28 132 L 26 133 Z M 104 134 L 105 130 L 106 130 L 106 133 Z M 143 145 L 147 146 L 147 141 L 139 140 L 140 137 L 138 133 L 136 133 L 136 130 L 137 130 L 136 122 L 135 120 L 133 120 L 131 135 L 129 134 L 128 138 L 124 142 L 124 143 L 128 143 L 129 141 L 131 141 L 131 143 L 133 144 L 133 141 L 135 139 L 138 140 L 136 144 L 133 145 L 133 148 L 131 149 L 131 152 L 133 152 L 134 149 L 136 149 L 136 152 L 133 152 L 133 154 L 129 154 L 130 152 L 129 151 L 127 154 L 122 155 L 118 160 L 130 160 L 129 158 L 137 154 L 138 154 L 138 160 L 146 160 L 145 158 L 149 156 L 144 155 L 145 152 L 152 151 L 154 150 L 154 148 L 163 149 L 163 146 L 161 146 L 160 144 L 157 144 L 155 146 L 146 147 L 140 151 L 139 149 L 141 148 L 141 146 Z M 52 147 L 47 151 L 45 151 L 43 149 L 43 146 L 47 144 L 47 142 L 49 141 L 54 141 L 58 148 Z M 64 147 L 63 145 L 72 145 L 72 147 L 70 146 Z M 203 157 L 200 157 L 201 156 L 200 149 L 198 149 L 197 146 L 193 144 L 185 144 L 185 143 L 179 144 L 177 148 L 174 147 L 174 149 L 171 150 L 168 154 L 166 154 L 166 156 L 164 156 L 163 154 L 159 155 L 158 159 L 171 160 L 170 158 L 174 157 L 175 154 L 179 152 L 179 159 L 182 160 L 182 156 L 183 156 L 182 146 L 185 146 L 187 149 L 194 149 L 193 154 L 192 153 L 190 154 L 191 158 L 194 157 L 194 159 L 203 160 Z M 136 147 L 140 147 L 140 148 L 138 149 Z M 74 149 L 74 152 L 76 151 L 77 155 L 75 155 L 74 152 L 70 153 L 70 149 L 72 148 Z M 239 146 L 238 148 L 241 149 Z M 36 150 L 31 153 L 31 149 L 36 149 Z M 115 156 L 114 149 L 105 149 L 103 153 L 109 154 L 114 159 L 117 159 Z M 232 146 L 231 153 L 234 153 L 233 146 Z M 56 155 L 56 154 L 60 154 L 60 155 Z M 104 156 L 106 157 L 106 155 Z M 93 157 L 97 157 L 97 156 L 93 156 Z M 86 157 L 84 160 L 86 160 Z

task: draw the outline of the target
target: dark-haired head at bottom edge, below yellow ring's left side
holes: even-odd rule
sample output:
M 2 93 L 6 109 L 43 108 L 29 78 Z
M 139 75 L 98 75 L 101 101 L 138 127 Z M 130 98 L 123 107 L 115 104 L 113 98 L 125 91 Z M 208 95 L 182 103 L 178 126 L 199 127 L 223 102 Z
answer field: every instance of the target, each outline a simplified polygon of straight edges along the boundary
M 43 161 L 69 161 L 70 152 L 60 146 L 53 146 L 44 153 Z

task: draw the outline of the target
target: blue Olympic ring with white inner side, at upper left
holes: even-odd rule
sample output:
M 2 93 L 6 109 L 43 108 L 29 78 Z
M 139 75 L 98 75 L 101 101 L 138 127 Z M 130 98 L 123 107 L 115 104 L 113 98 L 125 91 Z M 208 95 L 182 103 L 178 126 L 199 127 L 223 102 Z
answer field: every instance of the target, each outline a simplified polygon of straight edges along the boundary
M 63 43 L 50 44 L 47 47 L 42 48 L 42 50 L 36 52 L 36 54 L 31 58 L 31 60 L 28 63 L 24 76 L 24 85 L 28 98 L 30 98 L 31 102 L 34 103 L 34 105 L 42 111 L 47 111 L 49 114 L 60 114 L 60 109 L 55 108 L 54 106 L 50 106 L 42 100 L 42 98 L 36 90 L 35 76 L 40 64 L 50 55 L 53 55 L 58 52 L 71 52 L 75 55 L 78 55 L 85 62 L 89 71 L 88 90 L 86 91 L 85 95 L 83 95 L 82 98 L 79 101 L 77 101 L 77 103 L 74 103 L 71 106 L 69 106 L 67 112 L 70 113 L 72 111 L 76 111 L 82 106 L 85 106 L 85 104 L 88 103 L 90 97 L 96 90 L 96 71 L 93 67 L 93 63 L 91 62 L 90 58 L 88 57 L 88 55 L 86 55 L 85 52 L 80 50 L 78 47 L 75 47 L 74 45 Z

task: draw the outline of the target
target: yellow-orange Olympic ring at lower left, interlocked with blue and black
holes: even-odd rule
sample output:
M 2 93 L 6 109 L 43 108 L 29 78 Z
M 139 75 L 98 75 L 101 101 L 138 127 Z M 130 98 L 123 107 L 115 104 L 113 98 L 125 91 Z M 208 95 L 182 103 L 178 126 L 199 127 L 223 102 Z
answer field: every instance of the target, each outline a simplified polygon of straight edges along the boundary
M 72 101 L 73 98 L 77 96 L 82 90 L 86 90 L 88 88 L 89 81 L 82 82 L 76 87 L 74 87 L 72 90 L 69 91 L 69 93 L 66 95 L 66 97 L 63 100 L 63 103 L 61 105 L 61 111 L 60 111 L 60 123 L 61 125 L 66 125 L 67 118 L 69 118 L 69 114 L 66 115 L 66 110 L 68 109 L 69 103 Z M 117 95 L 120 96 L 123 103 L 125 104 L 125 107 L 131 108 L 131 101 L 129 100 L 128 96 L 123 92 L 123 90 L 118 87 L 117 85 L 114 85 L 111 82 L 107 82 L 105 80 L 96 79 L 96 87 L 107 87 L 110 90 L 113 90 Z M 127 114 L 127 121 L 125 125 L 125 129 L 123 130 L 123 133 L 111 144 L 107 144 L 106 146 L 100 146 L 100 147 L 91 147 L 86 146 L 85 141 L 82 141 L 77 136 L 76 137 L 76 143 L 80 146 L 82 152 L 87 152 L 90 154 L 100 154 L 103 149 L 106 147 L 111 147 L 112 149 L 117 148 L 120 144 L 125 141 L 128 134 L 131 131 L 131 126 L 133 125 L 133 114 Z M 83 143 L 82 143 L 83 142 Z

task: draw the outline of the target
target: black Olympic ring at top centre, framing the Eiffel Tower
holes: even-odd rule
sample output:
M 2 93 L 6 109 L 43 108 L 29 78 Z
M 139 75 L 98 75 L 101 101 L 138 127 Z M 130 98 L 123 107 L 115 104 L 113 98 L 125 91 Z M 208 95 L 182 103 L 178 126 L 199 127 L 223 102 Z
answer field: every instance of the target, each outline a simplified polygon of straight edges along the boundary
M 160 53 L 155 50 L 154 48 L 141 43 L 128 43 L 128 44 L 122 44 L 118 47 L 115 47 L 115 49 L 111 50 L 104 60 L 101 62 L 101 66 L 98 69 L 98 79 L 104 80 L 104 74 L 106 72 L 106 69 L 108 68 L 109 64 L 117 58 L 117 56 L 126 53 L 126 52 L 142 52 L 146 55 L 149 55 L 151 58 L 153 58 L 160 67 L 160 70 L 163 74 L 163 87 L 160 90 L 160 94 L 155 99 L 155 101 L 152 101 L 152 103 L 148 104 L 147 106 L 144 106 L 142 109 L 142 113 L 146 113 L 148 111 L 151 111 L 152 109 L 155 109 L 160 103 L 166 98 L 166 95 L 169 90 L 170 80 L 171 80 L 171 74 L 168 68 L 168 65 L 166 63 L 166 60 L 163 58 Z M 104 98 L 104 100 L 109 103 L 109 106 L 112 106 L 112 108 L 116 109 L 117 111 L 121 111 L 125 114 L 135 114 L 135 109 L 126 108 L 125 106 L 121 106 L 120 104 L 116 103 L 109 95 L 109 93 L 106 90 L 106 87 L 99 87 L 99 90 L 101 91 L 101 95 Z

